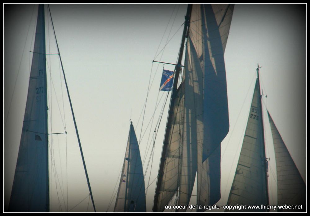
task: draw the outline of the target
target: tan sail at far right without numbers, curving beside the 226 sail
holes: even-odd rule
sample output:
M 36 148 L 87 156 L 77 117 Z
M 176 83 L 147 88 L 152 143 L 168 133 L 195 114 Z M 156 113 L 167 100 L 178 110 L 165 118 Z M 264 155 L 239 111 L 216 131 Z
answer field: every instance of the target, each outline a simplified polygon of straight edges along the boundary
M 302 209 L 281 209 L 282 211 L 306 211 L 306 185 L 276 125 L 268 112 L 273 146 L 276 154 L 278 205 L 303 205 Z M 280 210 L 280 209 L 278 209 Z

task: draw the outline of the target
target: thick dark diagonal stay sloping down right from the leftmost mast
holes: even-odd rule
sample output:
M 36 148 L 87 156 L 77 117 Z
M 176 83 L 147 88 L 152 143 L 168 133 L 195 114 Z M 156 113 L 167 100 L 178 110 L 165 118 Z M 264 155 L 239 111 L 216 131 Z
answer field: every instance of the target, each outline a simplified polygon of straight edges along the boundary
M 68 85 L 67 85 L 67 80 L 66 80 L 66 76 L 64 74 L 64 67 L 63 67 L 63 64 L 62 64 L 62 61 L 61 61 L 61 57 L 60 57 L 60 51 L 59 51 L 59 47 L 58 47 L 58 43 L 57 43 L 57 39 L 56 39 L 56 33 L 55 33 L 55 28 L 54 28 L 54 24 L 53 24 L 53 20 L 52 20 L 51 10 L 50 10 L 50 6 L 49 5 L 47 5 L 47 6 L 48 6 L 48 10 L 49 10 L 50 17 L 51 17 L 51 23 L 52 23 L 52 26 L 53 26 L 55 42 L 56 42 L 56 45 L 57 45 L 57 50 L 58 50 L 58 53 L 59 53 L 60 64 L 61 64 L 61 68 L 62 68 L 63 75 L 64 75 L 64 82 L 66 84 L 66 89 L 67 89 L 67 93 L 68 93 L 68 98 L 69 98 L 71 113 L 72 113 L 73 122 L 74 122 L 74 126 L 75 126 L 75 131 L 76 131 L 76 134 L 77 134 L 77 137 L 78 137 L 78 143 L 79 143 L 80 152 L 81 152 L 81 156 L 82 156 L 82 161 L 83 161 L 83 166 L 84 166 L 84 170 L 85 170 L 85 175 L 86 175 L 86 180 L 87 180 L 87 184 L 88 184 L 88 189 L 89 189 L 89 193 L 91 195 L 91 201 L 92 201 L 92 204 L 93 204 L 93 207 L 94 207 L 94 211 L 96 212 L 93 195 L 91 193 L 91 185 L 90 185 L 90 182 L 89 182 L 89 178 L 88 178 L 88 174 L 87 174 L 87 170 L 86 170 L 86 164 L 85 164 L 85 160 L 84 160 L 84 155 L 83 155 L 83 151 L 82 151 L 82 145 L 81 145 L 80 137 L 78 135 L 78 127 L 77 127 L 77 124 L 76 124 L 76 121 L 75 121 L 75 117 L 74 117 L 74 113 L 73 113 L 73 107 L 72 107 L 72 102 L 71 102 L 71 98 L 70 98 L 70 94 L 69 94 L 69 89 L 68 89 Z

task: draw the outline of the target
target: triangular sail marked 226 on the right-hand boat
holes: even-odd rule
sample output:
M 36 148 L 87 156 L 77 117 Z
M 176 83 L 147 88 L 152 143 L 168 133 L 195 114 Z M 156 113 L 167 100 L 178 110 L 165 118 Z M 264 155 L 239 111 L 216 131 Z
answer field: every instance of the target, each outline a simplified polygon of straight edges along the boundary
M 268 205 L 263 120 L 258 79 L 256 80 L 240 157 L 227 205 Z M 238 212 L 242 210 L 251 211 L 251 209 L 236 209 Z M 264 211 L 264 209 L 253 209 L 253 211 Z

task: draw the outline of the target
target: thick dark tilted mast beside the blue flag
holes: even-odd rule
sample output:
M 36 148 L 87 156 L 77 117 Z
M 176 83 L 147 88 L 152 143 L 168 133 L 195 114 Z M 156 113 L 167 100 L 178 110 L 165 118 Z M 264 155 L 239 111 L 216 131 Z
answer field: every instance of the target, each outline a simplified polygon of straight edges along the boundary
M 185 16 L 185 22 L 184 22 L 184 30 L 183 30 L 183 35 L 182 35 L 179 58 L 178 58 L 178 62 L 176 64 L 176 66 L 175 66 L 175 77 L 174 77 L 173 88 L 172 88 L 172 93 L 171 93 L 171 100 L 170 100 L 170 106 L 169 106 L 169 112 L 168 112 L 169 114 L 168 114 L 168 120 L 167 120 L 167 125 L 166 125 L 165 138 L 164 138 L 164 143 L 163 143 L 163 147 L 162 147 L 162 157 L 160 160 L 158 177 L 157 177 L 156 191 L 155 191 L 154 204 L 153 204 L 153 212 L 157 212 L 159 191 L 160 191 L 161 184 L 162 184 L 164 164 L 165 164 L 165 160 L 166 160 L 166 150 L 167 150 L 167 147 L 169 145 L 169 134 L 170 134 L 170 130 L 171 130 L 173 108 L 174 108 L 176 94 L 177 94 L 179 74 L 181 71 L 181 62 L 182 62 L 182 57 L 183 57 L 185 37 L 187 36 L 187 32 L 188 32 L 188 26 L 189 26 L 189 20 L 190 20 L 191 12 L 192 12 L 192 5 L 188 4 L 186 16 Z

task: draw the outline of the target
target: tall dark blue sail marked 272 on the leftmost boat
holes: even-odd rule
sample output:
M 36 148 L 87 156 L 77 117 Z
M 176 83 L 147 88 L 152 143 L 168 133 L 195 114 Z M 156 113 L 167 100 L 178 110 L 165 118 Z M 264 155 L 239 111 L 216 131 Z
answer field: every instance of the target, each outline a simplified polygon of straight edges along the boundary
M 9 211 L 49 211 L 45 25 L 41 4 Z

